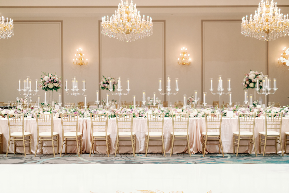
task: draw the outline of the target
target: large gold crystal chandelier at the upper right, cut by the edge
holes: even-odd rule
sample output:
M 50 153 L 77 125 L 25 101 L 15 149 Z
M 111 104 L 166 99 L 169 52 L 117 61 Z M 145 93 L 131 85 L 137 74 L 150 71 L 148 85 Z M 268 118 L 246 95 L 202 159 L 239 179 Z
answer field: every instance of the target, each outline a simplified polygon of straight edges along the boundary
M 262 0 L 253 18 L 252 14 L 249 21 L 248 16 L 246 16 L 246 19 L 245 17 L 242 18 L 241 27 L 241 34 L 244 36 L 263 41 L 275 40 L 288 35 L 288 14 L 287 18 L 286 15 L 280 14 L 280 9 L 278 10 L 277 3 L 274 3 L 273 0 L 270 5 L 268 0 L 266 0 L 266 3 Z

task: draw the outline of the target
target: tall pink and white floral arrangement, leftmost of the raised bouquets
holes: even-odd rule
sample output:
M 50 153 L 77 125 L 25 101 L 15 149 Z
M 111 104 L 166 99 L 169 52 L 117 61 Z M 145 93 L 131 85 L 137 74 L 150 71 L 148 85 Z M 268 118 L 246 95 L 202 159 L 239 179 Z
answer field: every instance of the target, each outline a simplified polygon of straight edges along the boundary
M 58 91 L 61 88 L 61 77 L 57 77 L 56 74 L 51 73 L 42 73 L 42 77 L 40 78 L 39 87 L 45 91 Z

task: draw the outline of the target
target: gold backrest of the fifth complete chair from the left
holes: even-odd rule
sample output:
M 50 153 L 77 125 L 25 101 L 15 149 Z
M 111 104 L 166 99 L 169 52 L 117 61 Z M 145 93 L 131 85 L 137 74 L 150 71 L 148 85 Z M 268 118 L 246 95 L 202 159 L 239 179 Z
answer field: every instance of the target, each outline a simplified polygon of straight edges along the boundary
M 119 132 L 119 129 L 122 131 L 128 131 L 131 132 L 132 136 L 132 122 L 133 122 L 133 114 L 116 114 L 116 128 L 117 133 Z

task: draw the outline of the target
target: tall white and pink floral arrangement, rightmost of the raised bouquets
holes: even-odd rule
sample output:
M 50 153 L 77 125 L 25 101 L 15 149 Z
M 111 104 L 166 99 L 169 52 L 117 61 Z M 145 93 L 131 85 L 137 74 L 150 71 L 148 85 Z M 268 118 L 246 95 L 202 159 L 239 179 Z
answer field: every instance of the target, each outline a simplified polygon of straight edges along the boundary
M 262 89 L 262 80 L 265 78 L 262 72 L 252 71 L 250 70 L 249 73 L 245 73 L 243 79 L 243 86 L 244 89 L 255 89 L 257 79 L 259 79 L 259 88 Z

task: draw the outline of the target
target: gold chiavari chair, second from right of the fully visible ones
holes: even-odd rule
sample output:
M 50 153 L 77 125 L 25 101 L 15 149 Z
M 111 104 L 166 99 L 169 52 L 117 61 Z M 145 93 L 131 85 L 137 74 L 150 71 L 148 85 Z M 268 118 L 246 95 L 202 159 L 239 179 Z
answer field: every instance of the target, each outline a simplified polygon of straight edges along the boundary
M 250 154 L 251 154 L 252 153 L 252 146 L 251 145 L 253 144 L 254 150 L 255 150 L 255 155 L 257 157 L 255 135 L 254 135 L 255 118 L 256 118 L 256 113 L 254 113 L 254 114 L 253 113 L 250 113 L 250 114 L 238 113 L 238 125 L 239 125 L 238 128 L 239 129 L 238 129 L 238 131 L 233 132 L 234 154 L 235 154 L 235 148 L 237 146 L 236 156 L 238 156 L 239 147 L 250 147 Z M 251 132 L 251 129 L 252 129 L 252 132 Z M 236 138 L 236 137 L 238 137 L 238 138 Z M 248 138 L 244 138 L 244 137 L 248 137 Z M 238 142 L 236 142 L 236 140 Z M 240 145 L 240 141 L 249 141 L 249 145 Z

